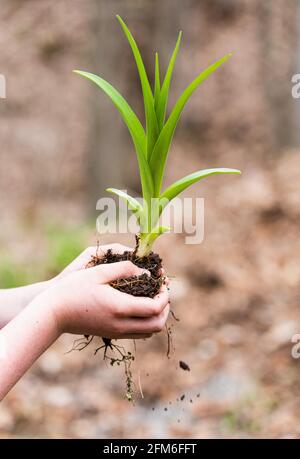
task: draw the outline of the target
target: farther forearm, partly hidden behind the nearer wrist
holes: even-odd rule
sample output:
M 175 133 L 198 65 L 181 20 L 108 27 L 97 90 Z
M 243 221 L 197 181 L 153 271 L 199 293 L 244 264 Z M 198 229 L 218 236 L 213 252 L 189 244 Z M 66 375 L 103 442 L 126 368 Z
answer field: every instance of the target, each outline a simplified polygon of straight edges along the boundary
M 0 290 L 0 329 L 12 320 L 52 281 L 38 282 L 24 287 Z

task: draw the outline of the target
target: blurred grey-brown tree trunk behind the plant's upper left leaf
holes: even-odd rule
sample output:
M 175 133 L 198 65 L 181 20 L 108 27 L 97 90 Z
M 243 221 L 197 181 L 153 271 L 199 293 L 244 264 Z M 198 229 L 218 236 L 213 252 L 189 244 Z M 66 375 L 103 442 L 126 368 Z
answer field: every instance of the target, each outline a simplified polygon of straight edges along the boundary
M 114 2 L 114 6 L 117 3 Z M 89 69 L 124 92 L 120 83 L 126 82 L 128 78 L 127 66 L 124 64 L 124 47 L 121 40 L 119 43 L 116 39 L 114 6 L 111 2 L 94 0 Z M 91 86 L 90 98 L 91 128 L 86 173 L 88 208 L 91 213 L 95 213 L 96 202 L 105 195 L 108 186 L 125 188 L 128 185 L 124 164 L 129 156 L 129 140 L 120 114 L 101 89 Z

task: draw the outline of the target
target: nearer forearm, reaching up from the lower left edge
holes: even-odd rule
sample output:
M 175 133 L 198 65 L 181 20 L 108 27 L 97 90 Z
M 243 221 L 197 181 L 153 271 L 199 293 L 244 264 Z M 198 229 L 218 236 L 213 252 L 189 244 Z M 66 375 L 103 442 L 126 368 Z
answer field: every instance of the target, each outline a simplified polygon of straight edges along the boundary
M 42 295 L 0 331 L 0 400 L 58 336 L 55 317 Z

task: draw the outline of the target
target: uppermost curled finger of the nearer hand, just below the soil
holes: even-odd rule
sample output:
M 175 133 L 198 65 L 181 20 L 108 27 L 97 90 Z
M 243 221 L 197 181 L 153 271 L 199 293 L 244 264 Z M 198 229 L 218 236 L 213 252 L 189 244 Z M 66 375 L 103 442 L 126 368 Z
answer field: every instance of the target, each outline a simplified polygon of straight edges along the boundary
M 117 308 L 118 317 L 152 317 L 159 315 L 169 303 L 169 292 L 164 285 L 160 292 L 153 299 L 128 295 L 118 292 L 115 294 L 115 304 L 121 305 Z

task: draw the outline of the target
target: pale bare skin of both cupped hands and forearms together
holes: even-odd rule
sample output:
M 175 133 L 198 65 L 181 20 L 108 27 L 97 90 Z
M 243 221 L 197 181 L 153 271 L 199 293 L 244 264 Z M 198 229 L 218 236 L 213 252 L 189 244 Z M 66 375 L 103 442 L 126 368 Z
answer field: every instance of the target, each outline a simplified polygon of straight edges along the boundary
M 63 333 L 141 339 L 164 328 L 166 286 L 153 299 L 121 293 L 109 282 L 144 271 L 130 261 L 83 269 L 92 253 L 95 248 L 87 249 L 55 279 L 0 290 L 0 322 L 5 325 L 0 330 L 0 400 Z

